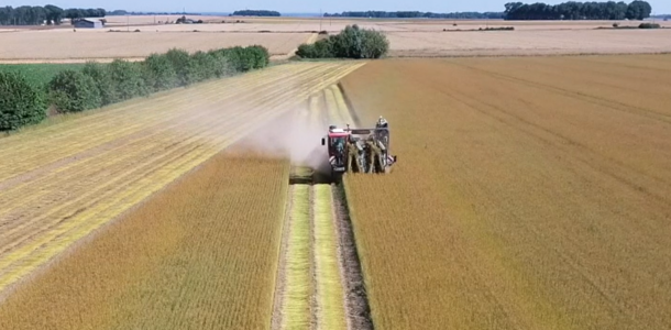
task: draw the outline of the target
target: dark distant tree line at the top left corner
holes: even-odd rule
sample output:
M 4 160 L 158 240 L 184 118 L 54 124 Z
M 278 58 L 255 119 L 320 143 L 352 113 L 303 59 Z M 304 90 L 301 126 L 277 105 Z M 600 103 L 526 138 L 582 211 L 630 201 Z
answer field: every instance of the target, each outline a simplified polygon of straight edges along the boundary
M 12 8 L 10 6 L 0 8 L 0 25 L 59 25 L 64 18 L 105 18 L 106 10 L 97 9 L 67 9 L 47 4 L 21 6 Z

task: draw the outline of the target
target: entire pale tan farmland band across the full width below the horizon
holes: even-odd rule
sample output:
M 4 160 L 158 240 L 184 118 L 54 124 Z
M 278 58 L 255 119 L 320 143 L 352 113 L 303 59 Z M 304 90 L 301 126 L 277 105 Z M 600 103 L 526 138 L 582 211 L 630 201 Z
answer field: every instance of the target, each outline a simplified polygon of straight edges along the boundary
M 613 21 L 468 21 L 468 20 L 366 20 L 297 18 L 193 16 L 206 24 L 153 24 L 177 16 L 110 16 L 105 29 L 15 29 L 0 33 L 0 63 L 81 63 L 86 59 L 141 59 L 172 47 L 190 52 L 260 44 L 275 59 L 293 55 L 301 43 L 315 41 L 315 32 L 338 33 L 349 24 L 384 31 L 392 57 L 444 57 L 465 55 L 552 55 L 671 52 L 671 29 L 656 31 L 595 30 Z M 221 20 L 244 23 L 220 23 Z M 638 22 L 622 21 L 620 26 Z M 671 22 L 659 22 L 671 28 Z M 453 24 L 457 24 L 454 26 Z M 515 31 L 469 31 L 514 26 Z M 110 30 L 122 31 L 110 33 Z M 131 31 L 124 32 L 124 31 Z M 141 32 L 133 32 L 140 30 Z M 194 32 L 197 30 L 198 32 Z M 443 30 L 450 30 L 444 32 Z M 52 44 L 57 43 L 58 47 Z

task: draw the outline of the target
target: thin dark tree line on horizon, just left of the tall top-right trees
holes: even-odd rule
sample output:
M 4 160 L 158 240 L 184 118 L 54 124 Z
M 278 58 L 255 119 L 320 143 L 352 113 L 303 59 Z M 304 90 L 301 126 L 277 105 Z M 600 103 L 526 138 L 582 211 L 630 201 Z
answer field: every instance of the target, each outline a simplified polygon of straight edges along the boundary
M 344 11 L 342 13 L 324 13 L 324 18 L 373 18 L 373 19 L 464 19 L 464 20 L 497 20 L 503 19 L 503 12 L 421 12 L 421 11 Z

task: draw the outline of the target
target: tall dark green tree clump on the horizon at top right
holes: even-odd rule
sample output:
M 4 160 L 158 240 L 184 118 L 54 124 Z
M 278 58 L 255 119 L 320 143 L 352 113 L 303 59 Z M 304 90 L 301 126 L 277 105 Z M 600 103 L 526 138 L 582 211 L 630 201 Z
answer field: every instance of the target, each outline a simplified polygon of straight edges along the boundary
M 623 1 L 570 1 L 556 6 L 509 2 L 505 7 L 506 20 L 644 20 L 652 12 L 650 3 L 638 0 L 629 4 Z

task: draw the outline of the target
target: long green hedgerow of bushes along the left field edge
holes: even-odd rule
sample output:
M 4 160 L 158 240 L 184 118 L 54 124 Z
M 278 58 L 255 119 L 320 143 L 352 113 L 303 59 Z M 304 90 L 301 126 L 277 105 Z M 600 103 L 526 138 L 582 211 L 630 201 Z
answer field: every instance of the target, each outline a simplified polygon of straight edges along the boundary
M 0 73 L 0 131 L 38 123 L 47 106 L 59 113 L 79 112 L 199 81 L 266 67 L 263 46 L 232 47 L 189 54 L 170 50 L 143 62 L 87 63 L 81 70 L 58 73 L 41 88 L 18 73 Z

